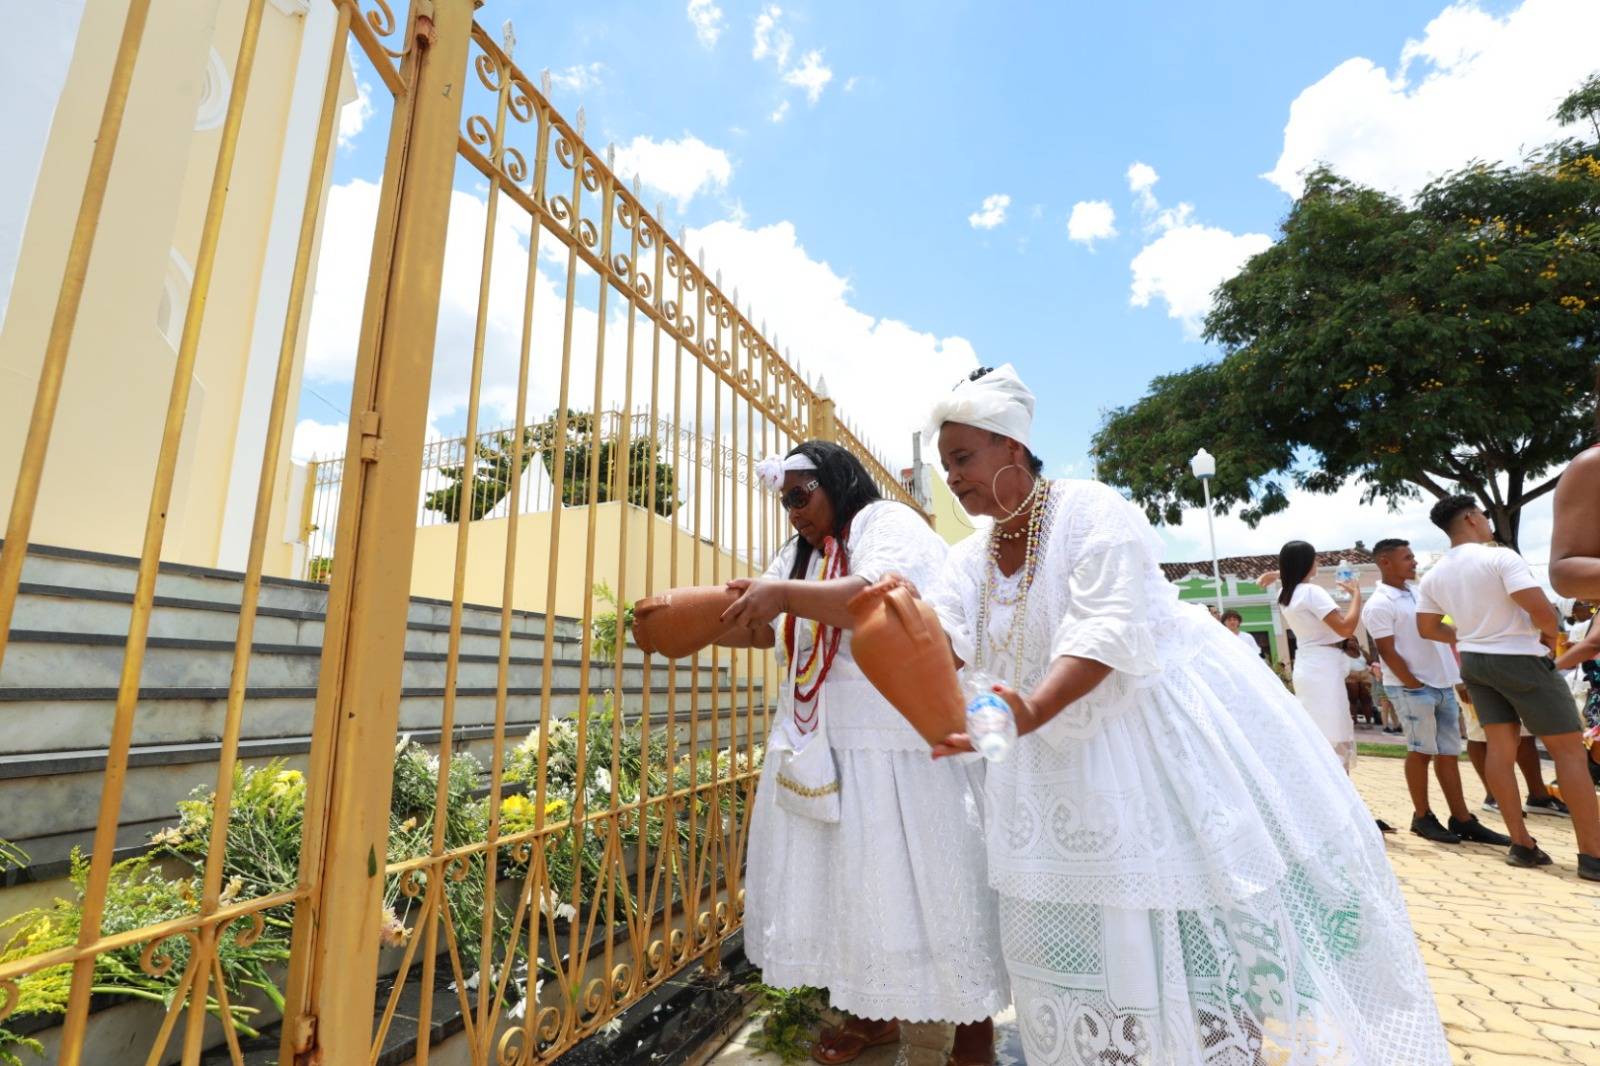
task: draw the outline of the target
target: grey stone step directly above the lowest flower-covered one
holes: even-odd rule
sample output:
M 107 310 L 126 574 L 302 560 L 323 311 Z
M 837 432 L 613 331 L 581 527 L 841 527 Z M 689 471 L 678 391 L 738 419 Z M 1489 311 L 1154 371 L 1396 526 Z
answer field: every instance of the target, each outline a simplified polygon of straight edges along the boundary
M 598 699 L 605 691 L 606 672 L 592 675 L 589 698 Z M 677 675 L 653 669 L 650 680 L 650 712 L 662 719 L 670 712 L 688 719 L 696 711 L 712 706 L 714 696 L 728 699 L 723 682 L 717 693 L 710 690 L 710 671 L 680 667 Z M 494 722 L 496 690 L 488 687 L 456 688 L 456 723 L 486 725 Z M 762 685 L 755 685 L 760 703 Z M 742 699 L 744 685 L 738 693 Z M 442 717 L 445 690 L 406 688 L 400 695 L 400 728 L 435 728 Z M 514 687 L 506 693 L 506 712 L 510 719 L 536 719 L 539 715 L 538 687 Z M 582 691 L 573 687 L 550 688 L 550 714 L 555 717 L 578 712 Z M 643 687 L 622 690 L 622 712 L 637 719 L 645 706 Z M 317 690 L 312 687 L 248 688 L 245 709 L 240 715 L 242 739 L 275 739 L 310 733 L 315 717 Z M 35 688 L 0 690 L 0 720 L 26 723 L 8 730 L 6 755 L 0 755 L 0 773 L 14 759 L 43 752 L 83 751 L 104 747 L 110 739 L 110 727 L 117 709 L 114 688 Z M 139 707 L 133 719 L 133 744 L 187 744 L 221 739 L 227 715 L 226 688 L 142 688 Z

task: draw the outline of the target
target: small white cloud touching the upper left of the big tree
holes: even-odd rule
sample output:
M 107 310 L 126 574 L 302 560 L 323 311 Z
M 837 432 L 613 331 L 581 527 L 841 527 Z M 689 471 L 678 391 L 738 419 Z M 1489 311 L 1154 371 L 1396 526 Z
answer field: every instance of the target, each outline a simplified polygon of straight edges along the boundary
M 1197 222 L 1174 226 L 1133 258 L 1131 303 L 1149 307 L 1157 299 L 1163 301 L 1166 317 L 1179 319 L 1184 331 L 1195 338 L 1211 311 L 1216 287 L 1270 245 L 1272 238 L 1266 234 L 1230 234 Z

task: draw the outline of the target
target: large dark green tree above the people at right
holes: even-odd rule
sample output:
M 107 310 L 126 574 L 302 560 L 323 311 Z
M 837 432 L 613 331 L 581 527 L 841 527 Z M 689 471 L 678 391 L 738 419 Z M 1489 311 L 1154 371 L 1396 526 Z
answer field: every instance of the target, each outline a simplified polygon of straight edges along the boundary
M 1589 115 L 1594 112 L 1574 112 Z M 1222 359 L 1157 378 L 1094 435 L 1099 477 L 1152 520 L 1202 503 L 1254 525 L 1290 483 L 1389 503 L 1478 498 L 1517 543 L 1523 506 L 1590 437 L 1600 354 L 1600 157 L 1568 141 L 1475 163 L 1410 205 L 1314 171 L 1278 240 L 1206 319 Z

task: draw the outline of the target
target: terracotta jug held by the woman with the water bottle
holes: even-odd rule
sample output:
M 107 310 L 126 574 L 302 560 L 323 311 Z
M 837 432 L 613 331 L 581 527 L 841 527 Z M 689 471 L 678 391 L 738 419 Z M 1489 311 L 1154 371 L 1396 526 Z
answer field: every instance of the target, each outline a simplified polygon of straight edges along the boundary
M 928 746 L 965 731 L 966 703 L 934 610 L 893 581 L 862 589 L 846 607 L 856 666 Z

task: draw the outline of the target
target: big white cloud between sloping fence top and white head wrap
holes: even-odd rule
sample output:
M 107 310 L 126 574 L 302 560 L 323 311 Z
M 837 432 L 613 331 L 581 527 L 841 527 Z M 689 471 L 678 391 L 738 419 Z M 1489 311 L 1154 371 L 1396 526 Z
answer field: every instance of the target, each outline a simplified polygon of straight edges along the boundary
M 840 413 L 893 461 L 910 459 L 910 434 L 933 402 L 978 367 L 960 336 L 939 338 L 909 323 L 877 319 L 851 303 L 850 282 L 800 245 L 792 222 L 749 229 L 714 222 L 691 229 L 690 248 L 736 283 L 741 306 L 811 375 L 827 378 Z

